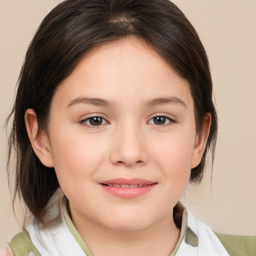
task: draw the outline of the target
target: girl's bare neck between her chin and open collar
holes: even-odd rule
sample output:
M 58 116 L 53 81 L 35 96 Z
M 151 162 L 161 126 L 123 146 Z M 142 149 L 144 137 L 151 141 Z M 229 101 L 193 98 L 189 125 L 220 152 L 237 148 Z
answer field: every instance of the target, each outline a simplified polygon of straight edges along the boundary
M 83 218 L 81 221 L 75 216 L 72 216 L 72 220 L 94 256 L 168 256 L 175 247 L 180 231 L 172 213 L 138 230 L 111 229 L 90 219 Z

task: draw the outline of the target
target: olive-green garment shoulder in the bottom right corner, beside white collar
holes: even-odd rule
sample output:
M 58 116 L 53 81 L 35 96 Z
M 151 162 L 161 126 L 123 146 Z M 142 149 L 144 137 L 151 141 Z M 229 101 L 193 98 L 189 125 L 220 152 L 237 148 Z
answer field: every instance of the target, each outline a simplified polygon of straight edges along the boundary
M 214 232 L 230 256 L 255 256 L 255 235 L 231 235 Z

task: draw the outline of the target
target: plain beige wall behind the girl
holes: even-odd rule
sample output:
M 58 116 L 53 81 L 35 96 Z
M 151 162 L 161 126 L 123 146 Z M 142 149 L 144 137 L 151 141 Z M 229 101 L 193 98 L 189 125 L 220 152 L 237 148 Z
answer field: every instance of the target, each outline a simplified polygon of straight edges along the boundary
M 0 0 L 0 126 L 10 110 L 26 48 L 59 0 Z M 174 0 L 197 29 L 211 64 L 219 135 L 201 185 L 185 204 L 211 228 L 256 234 L 256 0 Z M 0 129 L 0 248 L 20 230 L 5 174 L 6 134 Z

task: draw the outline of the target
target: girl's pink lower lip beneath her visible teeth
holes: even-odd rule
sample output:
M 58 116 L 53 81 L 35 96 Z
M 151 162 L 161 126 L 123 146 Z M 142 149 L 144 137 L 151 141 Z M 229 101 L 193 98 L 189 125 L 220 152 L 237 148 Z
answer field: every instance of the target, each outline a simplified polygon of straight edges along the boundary
M 156 183 L 142 187 L 116 187 L 106 186 L 102 184 L 100 185 L 106 192 L 113 194 L 115 196 L 122 198 L 135 198 L 151 191 L 156 185 Z

